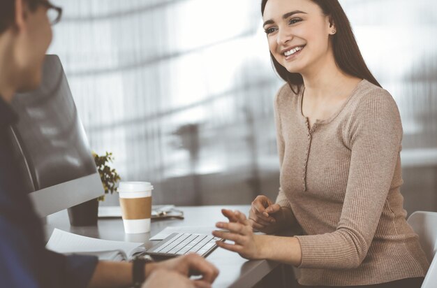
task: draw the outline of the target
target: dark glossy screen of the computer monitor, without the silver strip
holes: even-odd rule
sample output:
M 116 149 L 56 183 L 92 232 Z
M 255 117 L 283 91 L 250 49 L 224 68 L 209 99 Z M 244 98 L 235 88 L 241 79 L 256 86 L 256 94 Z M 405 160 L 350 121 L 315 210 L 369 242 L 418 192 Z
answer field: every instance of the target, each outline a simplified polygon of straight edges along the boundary
M 15 144 L 20 145 L 35 189 L 97 172 L 57 55 L 46 55 L 40 87 L 16 94 L 12 106 L 20 117 L 13 127 Z

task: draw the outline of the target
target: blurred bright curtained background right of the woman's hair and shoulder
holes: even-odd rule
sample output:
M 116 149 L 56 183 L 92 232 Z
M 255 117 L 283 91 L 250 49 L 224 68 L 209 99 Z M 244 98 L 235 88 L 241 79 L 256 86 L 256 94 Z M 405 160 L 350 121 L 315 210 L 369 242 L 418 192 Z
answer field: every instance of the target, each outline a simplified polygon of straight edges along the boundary
M 437 2 L 343 0 L 364 59 L 397 102 L 408 213 L 437 210 Z

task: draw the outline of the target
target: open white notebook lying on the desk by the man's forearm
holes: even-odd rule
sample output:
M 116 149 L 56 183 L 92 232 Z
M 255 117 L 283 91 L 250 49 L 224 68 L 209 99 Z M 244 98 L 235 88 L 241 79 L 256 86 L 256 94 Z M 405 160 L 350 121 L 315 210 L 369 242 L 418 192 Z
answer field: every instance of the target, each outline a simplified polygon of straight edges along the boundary
M 96 239 L 59 229 L 54 229 L 45 247 L 62 254 L 91 254 L 110 261 L 126 261 L 145 252 L 142 243 Z

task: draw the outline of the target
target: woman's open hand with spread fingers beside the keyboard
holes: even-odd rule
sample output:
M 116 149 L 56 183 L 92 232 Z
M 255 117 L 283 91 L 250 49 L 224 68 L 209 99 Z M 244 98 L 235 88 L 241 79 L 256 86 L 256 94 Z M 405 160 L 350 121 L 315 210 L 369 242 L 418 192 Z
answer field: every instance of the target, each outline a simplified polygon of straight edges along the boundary
M 222 209 L 221 213 L 229 222 L 218 222 L 216 227 L 228 229 L 229 232 L 213 231 L 216 237 L 234 241 L 234 244 L 217 241 L 217 245 L 226 250 L 237 252 L 246 259 L 264 259 L 262 254 L 262 235 L 253 234 L 252 224 L 246 216 L 239 211 Z

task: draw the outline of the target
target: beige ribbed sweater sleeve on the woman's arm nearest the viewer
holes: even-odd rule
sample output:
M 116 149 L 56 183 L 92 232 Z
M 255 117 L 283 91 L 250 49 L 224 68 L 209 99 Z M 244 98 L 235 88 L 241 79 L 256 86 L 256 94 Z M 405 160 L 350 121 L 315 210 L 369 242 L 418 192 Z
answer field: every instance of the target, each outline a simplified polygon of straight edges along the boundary
M 350 168 L 341 217 L 332 233 L 297 236 L 302 268 L 360 266 L 400 165 L 402 125 L 388 92 L 374 89 L 363 95 L 350 117 Z

